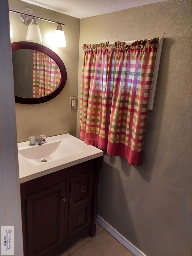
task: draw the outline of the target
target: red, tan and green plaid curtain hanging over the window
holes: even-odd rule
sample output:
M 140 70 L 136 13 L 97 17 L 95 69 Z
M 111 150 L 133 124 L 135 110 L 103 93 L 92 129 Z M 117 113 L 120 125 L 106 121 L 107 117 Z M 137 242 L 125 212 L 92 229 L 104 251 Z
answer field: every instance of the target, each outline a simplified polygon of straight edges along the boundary
M 140 165 L 158 39 L 84 44 L 80 139 Z

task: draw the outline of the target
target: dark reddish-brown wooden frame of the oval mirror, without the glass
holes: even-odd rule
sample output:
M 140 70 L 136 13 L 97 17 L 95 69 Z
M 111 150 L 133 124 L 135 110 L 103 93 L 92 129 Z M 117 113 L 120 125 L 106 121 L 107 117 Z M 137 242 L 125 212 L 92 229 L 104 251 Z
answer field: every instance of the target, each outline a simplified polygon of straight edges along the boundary
M 49 101 L 53 98 L 55 98 L 64 88 L 66 80 L 67 80 L 67 71 L 65 68 L 64 63 L 62 62 L 61 58 L 54 53 L 52 50 L 49 48 L 41 45 L 41 44 L 36 44 L 32 42 L 14 42 L 11 43 L 11 50 L 19 50 L 19 49 L 30 49 L 30 50 L 37 50 L 39 52 L 45 53 L 49 57 L 51 57 L 56 64 L 58 65 L 60 71 L 61 71 L 61 80 L 57 86 L 57 88 L 52 91 L 51 93 L 39 97 L 39 98 L 24 98 L 24 97 L 19 97 L 15 95 L 15 102 L 20 103 L 20 104 L 39 104 L 43 103 L 46 101 Z

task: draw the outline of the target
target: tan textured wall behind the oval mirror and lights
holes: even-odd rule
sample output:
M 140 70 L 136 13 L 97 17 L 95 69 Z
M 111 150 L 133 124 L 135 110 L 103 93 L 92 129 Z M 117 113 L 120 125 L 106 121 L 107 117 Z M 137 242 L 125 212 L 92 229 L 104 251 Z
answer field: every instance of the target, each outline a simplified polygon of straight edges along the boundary
M 19 0 L 9 0 L 9 8 L 17 11 L 32 8 L 37 16 L 65 23 L 63 30 L 67 44 L 66 48 L 48 45 L 47 38 L 51 32 L 54 32 L 57 24 L 38 20 L 43 39 L 41 44 L 53 50 L 62 59 L 67 70 L 67 83 L 56 98 L 46 103 L 15 104 L 18 142 L 29 140 L 29 136 L 38 136 L 42 133 L 47 137 L 64 133 L 75 136 L 77 111 L 70 110 L 70 97 L 77 96 L 80 20 Z M 10 13 L 10 25 L 14 36 L 11 42 L 25 41 L 28 27 L 22 23 L 19 14 Z

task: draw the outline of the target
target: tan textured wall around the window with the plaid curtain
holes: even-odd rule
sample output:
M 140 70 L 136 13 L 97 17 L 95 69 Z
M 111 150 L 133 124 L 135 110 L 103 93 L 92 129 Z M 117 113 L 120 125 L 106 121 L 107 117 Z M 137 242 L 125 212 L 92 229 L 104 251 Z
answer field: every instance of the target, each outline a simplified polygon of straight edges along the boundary
M 105 154 L 99 184 L 99 215 L 147 256 L 192 255 L 191 24 L 191 3 L 181 0 L 80 22 L 78 92 L 82 44 L 161 37 L 165 32 L 143 164 L 130 166 L 124 158 Z

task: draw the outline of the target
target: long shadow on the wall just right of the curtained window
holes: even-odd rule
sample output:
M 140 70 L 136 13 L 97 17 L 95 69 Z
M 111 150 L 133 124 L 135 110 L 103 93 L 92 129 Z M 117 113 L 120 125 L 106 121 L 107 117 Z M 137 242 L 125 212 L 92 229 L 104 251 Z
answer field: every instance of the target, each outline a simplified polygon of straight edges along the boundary
M 138 171 L 140 176 L 147 182 L 151 180 L 152 170 L 157 154 L 159 137 L 161 133 L 162 116 L 164 111 L 164 102 L 168 83 L 170 49 L 173 44 L 173 39 L 164 39 L 163 49 L 161 53 L 161 62 L 158 73 L 158 82 L 155 92 L 154 106 L 153 110 L 148 111 L 147 116 L 142 164 L 140 166 L 134 166 L 134 168 Z M 126 176 L 129 176 L 131 166 L 127 164 L 126 161 L 124 161 L 124 158 L 120 157 L 120 159 L 121 169 L 123 170 Z M 162 162 L 163 159 L 161 159 L 161 162 L 159 164 L 161 164 Z

